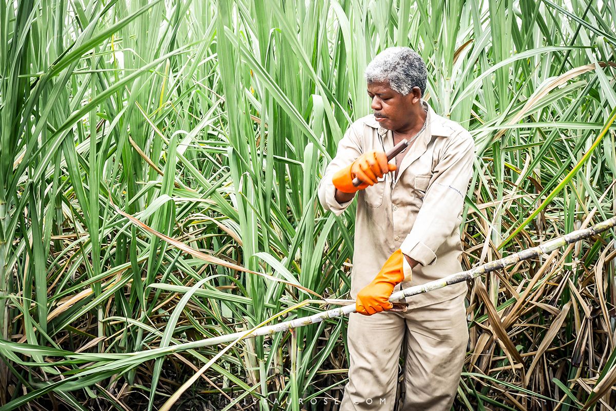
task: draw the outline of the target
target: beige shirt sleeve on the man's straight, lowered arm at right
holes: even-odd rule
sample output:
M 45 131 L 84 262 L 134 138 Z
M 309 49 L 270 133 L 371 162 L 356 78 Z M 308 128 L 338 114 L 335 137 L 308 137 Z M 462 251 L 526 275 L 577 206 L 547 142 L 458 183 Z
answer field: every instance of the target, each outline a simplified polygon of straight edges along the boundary
M 455 229 L 471 179 L 475 144 L 467 130 L 451 138 L 437 164 L 413 228 L 405 237 L 402 253 L 421 265 L 436 261 L 436 252 Z

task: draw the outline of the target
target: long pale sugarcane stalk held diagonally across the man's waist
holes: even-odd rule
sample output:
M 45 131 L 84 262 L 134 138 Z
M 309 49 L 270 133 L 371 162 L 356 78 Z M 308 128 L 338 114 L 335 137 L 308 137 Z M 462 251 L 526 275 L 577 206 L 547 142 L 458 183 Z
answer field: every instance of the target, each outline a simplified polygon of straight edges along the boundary
M 476 268 L 472 268 L 467 271 L 461 271 L 460 273 L 452 274 L 450 276 L 435 281 L 429 281 L 426 282 L 426 284 L 414 285 L 413 287 L 408 287 L 407 289 L 397 291 L 395 293 L 392 293 L 391 297 L 389 297 L 389 301 L 394 303 L 395 301 L 399 301 L 405 297 L 411 297 L 412 295 L 442 289 L 443 287 L 447 287 L 447 285 L 470 280 L 475 277 L 479 277 L 482 274 L 487 274 L 491 271 L 514 265 L 519 261 L 530 260 L 530 258 L 538 257 L 539 255 L 544 253 L 550 253 L 556 249 L 559 249 L 560 247 L 564 247 L 567 244 L 572 244 L 573 242 L 581 241 L 590 236 L 602 233 L 603 231 L 606 231 L 607 229 L 610 229 L 614 226 L 616 226 L 616 216 L 609 218 L 608 220 L 601 221 L 601 223 L 598 223 L 590 228 L 572 231 L 569 234 L 565 234 L 561 237 L 556 237 L 555 239 L 537 245 L 537 247 L 532 247 L 530 249 L 519 251 L 517 253 L 508 255 L 507 257 L 500 258 L 499 260 L 490 261 L 489 263 L 485 263 L 484 265 L 480 265 Z M 272 335 L 277 332 L 284 332 L 292 328 L 302 327 L 303 325 L 316 324 L 317 322 L 321 322 L 328 318 L 340 317 L 351 313 L 355 313 L 355 303 L 343 307 L 328 309 L 326 311 L 323 311 L 322 313 L 313 314 L 312 316 L 283 321 L 279 322 L 278 324 L 265 325 L 264 327 L 256 329 L 253 332 L 247 334 L 245 331 L 236 332 L 228 335 L 221 335 L 219 337 L 207 338 L 201 341 L 194 341 L 193 343 L 188 344 L 191 344 L 192 348 L 194 348 L 196 346 L 210 346 L 221 343 L 228 343 L 230 341 L 236 340 L 237 338 L 240 338 L 243 334 L 245 334 L 243 338 L 257 337 L 258 335 Z

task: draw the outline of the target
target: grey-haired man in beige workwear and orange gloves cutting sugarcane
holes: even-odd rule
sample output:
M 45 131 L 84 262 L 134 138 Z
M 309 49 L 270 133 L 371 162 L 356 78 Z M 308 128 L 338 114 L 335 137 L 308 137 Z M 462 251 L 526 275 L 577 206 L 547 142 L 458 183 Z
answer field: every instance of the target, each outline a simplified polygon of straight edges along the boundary
M 349 382 L 341 411 L 392 410 L 400 349 L 406 345 L 404 410 L 449 410 L 468 342 L 466 283 L 408 297 L 408 311 L 389 311 L 401 286 L 462 271 L 461 212 L 474 142 L 460 124 L 422 96 L 426 66 L 408 47 L 391 47 L 366 69 L 373 114 L 355 121 L 339 142 L 318 187 L 336 215 L 357 194 L 349 316 Z M 407 150 L 387 162 L 403 138 Z M 362 185 L 355 188 L 352 180 Z M 402 301 L 403 302 L 403 301 Z

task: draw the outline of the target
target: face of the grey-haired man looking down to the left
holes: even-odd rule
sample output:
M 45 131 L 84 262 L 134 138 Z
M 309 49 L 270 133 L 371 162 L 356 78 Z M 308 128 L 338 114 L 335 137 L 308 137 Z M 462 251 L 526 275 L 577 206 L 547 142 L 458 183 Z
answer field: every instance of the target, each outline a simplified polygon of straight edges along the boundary
M 371 108 L 381 127 L 394 131 L 408 131 L 414 126 L 416 110 L 421 98 L 419 87 L 402 95 L 389 87 L 389 82 L 368 84 L 368 96 L 372 99 Z

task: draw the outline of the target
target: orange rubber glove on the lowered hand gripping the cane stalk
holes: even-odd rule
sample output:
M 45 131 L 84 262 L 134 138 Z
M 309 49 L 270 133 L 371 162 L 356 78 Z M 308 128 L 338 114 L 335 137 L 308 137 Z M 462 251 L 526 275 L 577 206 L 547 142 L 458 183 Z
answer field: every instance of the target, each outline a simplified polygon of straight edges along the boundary
M 388 301 L 389 296 L 394 291 L 395 285 L 402 281 L 411 281 L 411 266 L 402 250 L 397 249 L 387 258 L 375 279 L 357 293 L 355 310 L 370 316 L 391 309 L 393 305 Z

